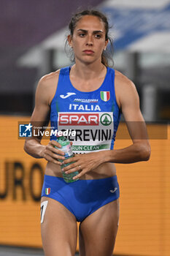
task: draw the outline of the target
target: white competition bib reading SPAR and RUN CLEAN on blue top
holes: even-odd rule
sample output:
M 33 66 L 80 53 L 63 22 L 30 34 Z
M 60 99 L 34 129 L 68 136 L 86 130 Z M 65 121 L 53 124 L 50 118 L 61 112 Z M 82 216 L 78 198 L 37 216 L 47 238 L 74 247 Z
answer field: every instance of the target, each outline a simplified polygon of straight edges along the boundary
M 112 112 L 58 112 L 58 131 L 76 132 L 72 150 L 74 154 L 108 150 L 112 143 L 114 120 Z

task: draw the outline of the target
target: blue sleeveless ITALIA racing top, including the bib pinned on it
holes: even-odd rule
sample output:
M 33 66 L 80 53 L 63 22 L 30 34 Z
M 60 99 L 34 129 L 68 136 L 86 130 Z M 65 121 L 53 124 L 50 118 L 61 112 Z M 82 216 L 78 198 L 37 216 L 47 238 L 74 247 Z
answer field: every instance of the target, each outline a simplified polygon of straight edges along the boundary
M 53 129 L 67 130 L 76 154 L 112 149 L 120 122 L 115 97 L 115 70 L 107 67 L 104 82 L 95 91 L 79 91 L 69 78 L 71 67 L 62 68 L 51 102 L 50 123 Z M 76 135 L 70 135 L 71 131 Z M 50 140 L 55 140 L 55 135 Z

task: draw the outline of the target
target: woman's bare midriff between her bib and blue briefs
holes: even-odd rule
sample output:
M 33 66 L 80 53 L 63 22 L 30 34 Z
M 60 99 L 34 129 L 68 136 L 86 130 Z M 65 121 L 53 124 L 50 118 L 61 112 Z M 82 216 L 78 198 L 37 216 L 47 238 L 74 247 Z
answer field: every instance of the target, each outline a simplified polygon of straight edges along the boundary
M 47 162 L 45 174 L 49 176 L 62 177 L 61 166 L 56 165 L 53 162 Z M 112 162 L 106 162 L 99 165 L 96 169 L 86 173 L 80 179 L 108 178 L 115 175 L 116 175 L 115 164 Z

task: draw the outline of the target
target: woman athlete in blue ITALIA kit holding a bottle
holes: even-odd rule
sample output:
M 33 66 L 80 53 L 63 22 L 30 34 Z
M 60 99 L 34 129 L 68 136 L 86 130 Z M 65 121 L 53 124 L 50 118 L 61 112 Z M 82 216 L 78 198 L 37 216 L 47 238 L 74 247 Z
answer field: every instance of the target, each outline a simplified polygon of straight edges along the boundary
M 45 75 L 36 89 L 31 124 L 74 129 L 74 158 L 65 159 L 59 143 L 51 138 L 26 140 L 25 151 L 45 158 L 47 167 L 42 188 L 42 245 L 47 256 L 71 256 L 77 247 L 80 222 L 81 256 L 112 255 L 119 221 L 119 185 L 114 163 L 133 163 L 150 158 L 150 144 L 134 83 L 108 67 L 104 57 L 109 41 L 107 18 L 96 10 L 72 17 L 67 37 L 74 65 Z M 132 143 L 113 149 L 123 113 Z M 55 148 L 57 146 L 58 148 Z M 83 154 L 84 153 L 84 154 Z M 66 183 L 61 162 L 74 162 L 63 171 L 78 181 Z M 74 161 L 73 161 L 74 160 Z

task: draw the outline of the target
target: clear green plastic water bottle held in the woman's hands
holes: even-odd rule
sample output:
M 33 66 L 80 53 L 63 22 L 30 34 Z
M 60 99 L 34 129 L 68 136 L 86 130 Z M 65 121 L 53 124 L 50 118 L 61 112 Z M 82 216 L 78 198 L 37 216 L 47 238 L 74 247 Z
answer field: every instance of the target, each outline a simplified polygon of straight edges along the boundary
M 61 151 L 63 151 L 64 152 L 64 157 L 66 159 L 72 158 L 74 156 L 74 154 L 72 152 L 72 146 L 71 146 L 69 140 L 67 140 L 64 136 L 61 136 L 61 137 L 57 138 L 57 142 L 59 144 L 61 144 L 62 148 L 58 148 L 56 146 L 55 146 L 55 148 L 58 148 Z M 63 162 L 62 159 L 58 159 L 58 161 Z M 61 169 L 63 169 L 63 167 L 71 165 L 72 163 L 73 162 L 69 162 L 69 164 L 61 165 Z M 77 176 L 79 174 L 79 172 L 77 172 L 77 171 L 75 171 L 74 173 L 69 173 L 69 174 L 66 174 L 62 170 L 61 170 L 61 172 L 62 172 L 64 181 L 66 181 L 67 183 L 74 182 L 74 181 L 77 181 L 79 179 L 79 178 L 77 178 L 75 180 L 73 179 L 74 176 Z

